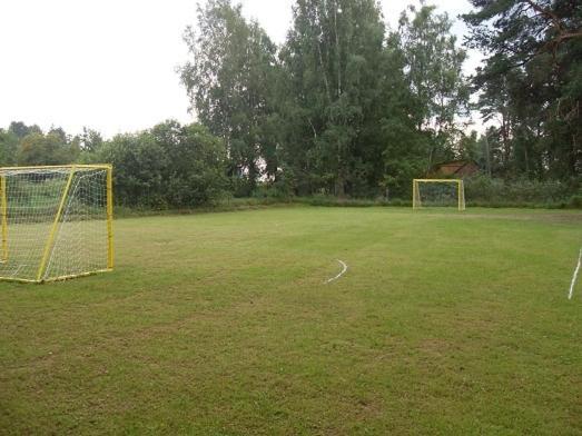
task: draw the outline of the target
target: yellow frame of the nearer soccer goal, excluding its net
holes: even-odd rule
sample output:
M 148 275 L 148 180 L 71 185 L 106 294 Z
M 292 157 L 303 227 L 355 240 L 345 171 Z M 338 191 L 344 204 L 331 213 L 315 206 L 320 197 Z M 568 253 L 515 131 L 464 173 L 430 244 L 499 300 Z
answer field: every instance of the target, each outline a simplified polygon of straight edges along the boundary
M 9 198 L 7 196 L 7 176 L 6 171 L 18 171 L 18 170 L 42 170 L 42 169 L 69 169 L 70 172 L 67 178 L 66 186 L 60 196 L 59 205 L 55 219 L 45 242 L 42 258 L 37 271 L 36 279 L 26 279 L 18 277 L 4 277 L 0 276 L 2 281 L 17 281 L 17 283 L 32 283 L 32 284 L 42 284 L 47 281 L 60 281 L 68 280 L 76 277 L 91 276 L 98 272 L 107 272 L 114 270 L 114 188 L 112 188 L 112 166 L 109 164 L 96 164 L 96 165 L 45 165 L 45 166 L 23 166 L 23 167 L 0 167 L 0 220 L 1 220 L 1 247 L 0 247 L 0 262 L 8 261 L 10 254 L 8 250 L 9 242 L 9 217 L 8 217 L 8 202 Z M 67 197 L 69 194 L 69 188 L 75 174 L 78 170 L 83 169 L 101 169 L 106 170 L 106 226 L 107 226 L 107 267 L 105 269 L 96 269 L 90 271 L 83 271 L 79 274 L 68 275 L 68 276 L 58 276 L 42 278 L 47 268 L 47 261 L 49 259 L 52 247 L 55 246 L 55 237 L 59 229 L 59 222 L 62 217 Z

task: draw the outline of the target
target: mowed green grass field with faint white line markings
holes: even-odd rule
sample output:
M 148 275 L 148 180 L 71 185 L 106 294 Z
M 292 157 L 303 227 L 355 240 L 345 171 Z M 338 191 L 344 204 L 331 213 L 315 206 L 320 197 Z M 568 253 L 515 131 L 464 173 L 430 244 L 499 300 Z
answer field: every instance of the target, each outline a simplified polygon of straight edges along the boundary
M 115 231 L 115 272 L 0 284 L 1 434 L 582 434 L 580 212 L 293 207 Z

